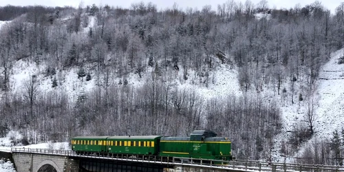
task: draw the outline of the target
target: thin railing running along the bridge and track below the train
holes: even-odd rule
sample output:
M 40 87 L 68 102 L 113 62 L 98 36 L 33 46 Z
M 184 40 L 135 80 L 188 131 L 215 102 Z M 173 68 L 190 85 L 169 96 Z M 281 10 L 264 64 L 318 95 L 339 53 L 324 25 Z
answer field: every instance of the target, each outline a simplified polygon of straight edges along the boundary
M 12 148 L 12 152 L 17 153 L 39 153 L 50 155 L 65 155 L 69 157 L 80 158 L 100 158 L 106 160 L 122 160 L 131 162 L 146 162 L 166 165 L 182 165 L 182 166 L 202 166 L 211 169 L 228 169 L 235 171 L 272 171 L 272 172 L 344 172 L 344 166 L 328 166 L 319 164 L 293 164 L 281 162 L 261 162 L 252 160 L 206 160 L 196 158 L 175 158 L 162 157 L 154 155 L 127 155 L 107 153 L 106 155 L 100 153 L 76 153 L 72 150 L 58 150 L 58 149 L 28 149 L 28 148 Z

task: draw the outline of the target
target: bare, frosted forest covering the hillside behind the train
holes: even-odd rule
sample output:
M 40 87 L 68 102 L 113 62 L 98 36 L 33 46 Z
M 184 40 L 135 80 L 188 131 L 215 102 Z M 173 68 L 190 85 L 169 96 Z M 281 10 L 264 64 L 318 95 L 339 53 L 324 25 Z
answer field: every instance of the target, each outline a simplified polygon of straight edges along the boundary
M 316 130 L 313 106 L 307 103 L 307 125 L 275 145 L 275 137 L 286 132 L 280 107 L 312 102 L 321 65 L 343 48 L 344 3 L 334 14 L 319 1 L 271 9 L 265 0 L 228 0 L 216 9 L 175 4 L 158 10 L 143 2 L 128 9 L 83 3 L 0 7 L 0 21 L 10 21 L 0 29 L 0 137 L 17 130 L 23 139 L 14 144 L 34 144 L 92 135 L 189 136 L 212 129 L 232 140 L 237 159 L 274 161 L 276 147 L 293 156 L 293 147 Z M 14 92 L 18 61 L 43 69 Z M 178 80 L 209 87 L 220 66 L 238 72 L 235 91 L 241 96 L 204 100 L 173 85 Z M 63 72 L 72 69 L 80 83 L 96 83 L 92 92 L 71 96 L 63 89 Z M 131 85 L 133 75 L 144 84 Z M 52 91 L 40 89 L 42 77 L 51 80 Z M 273 96 L 264 99 L 262 92 Z M 308 149 L 314 147 L 296 161 L 342 164 L 344 130 Z

